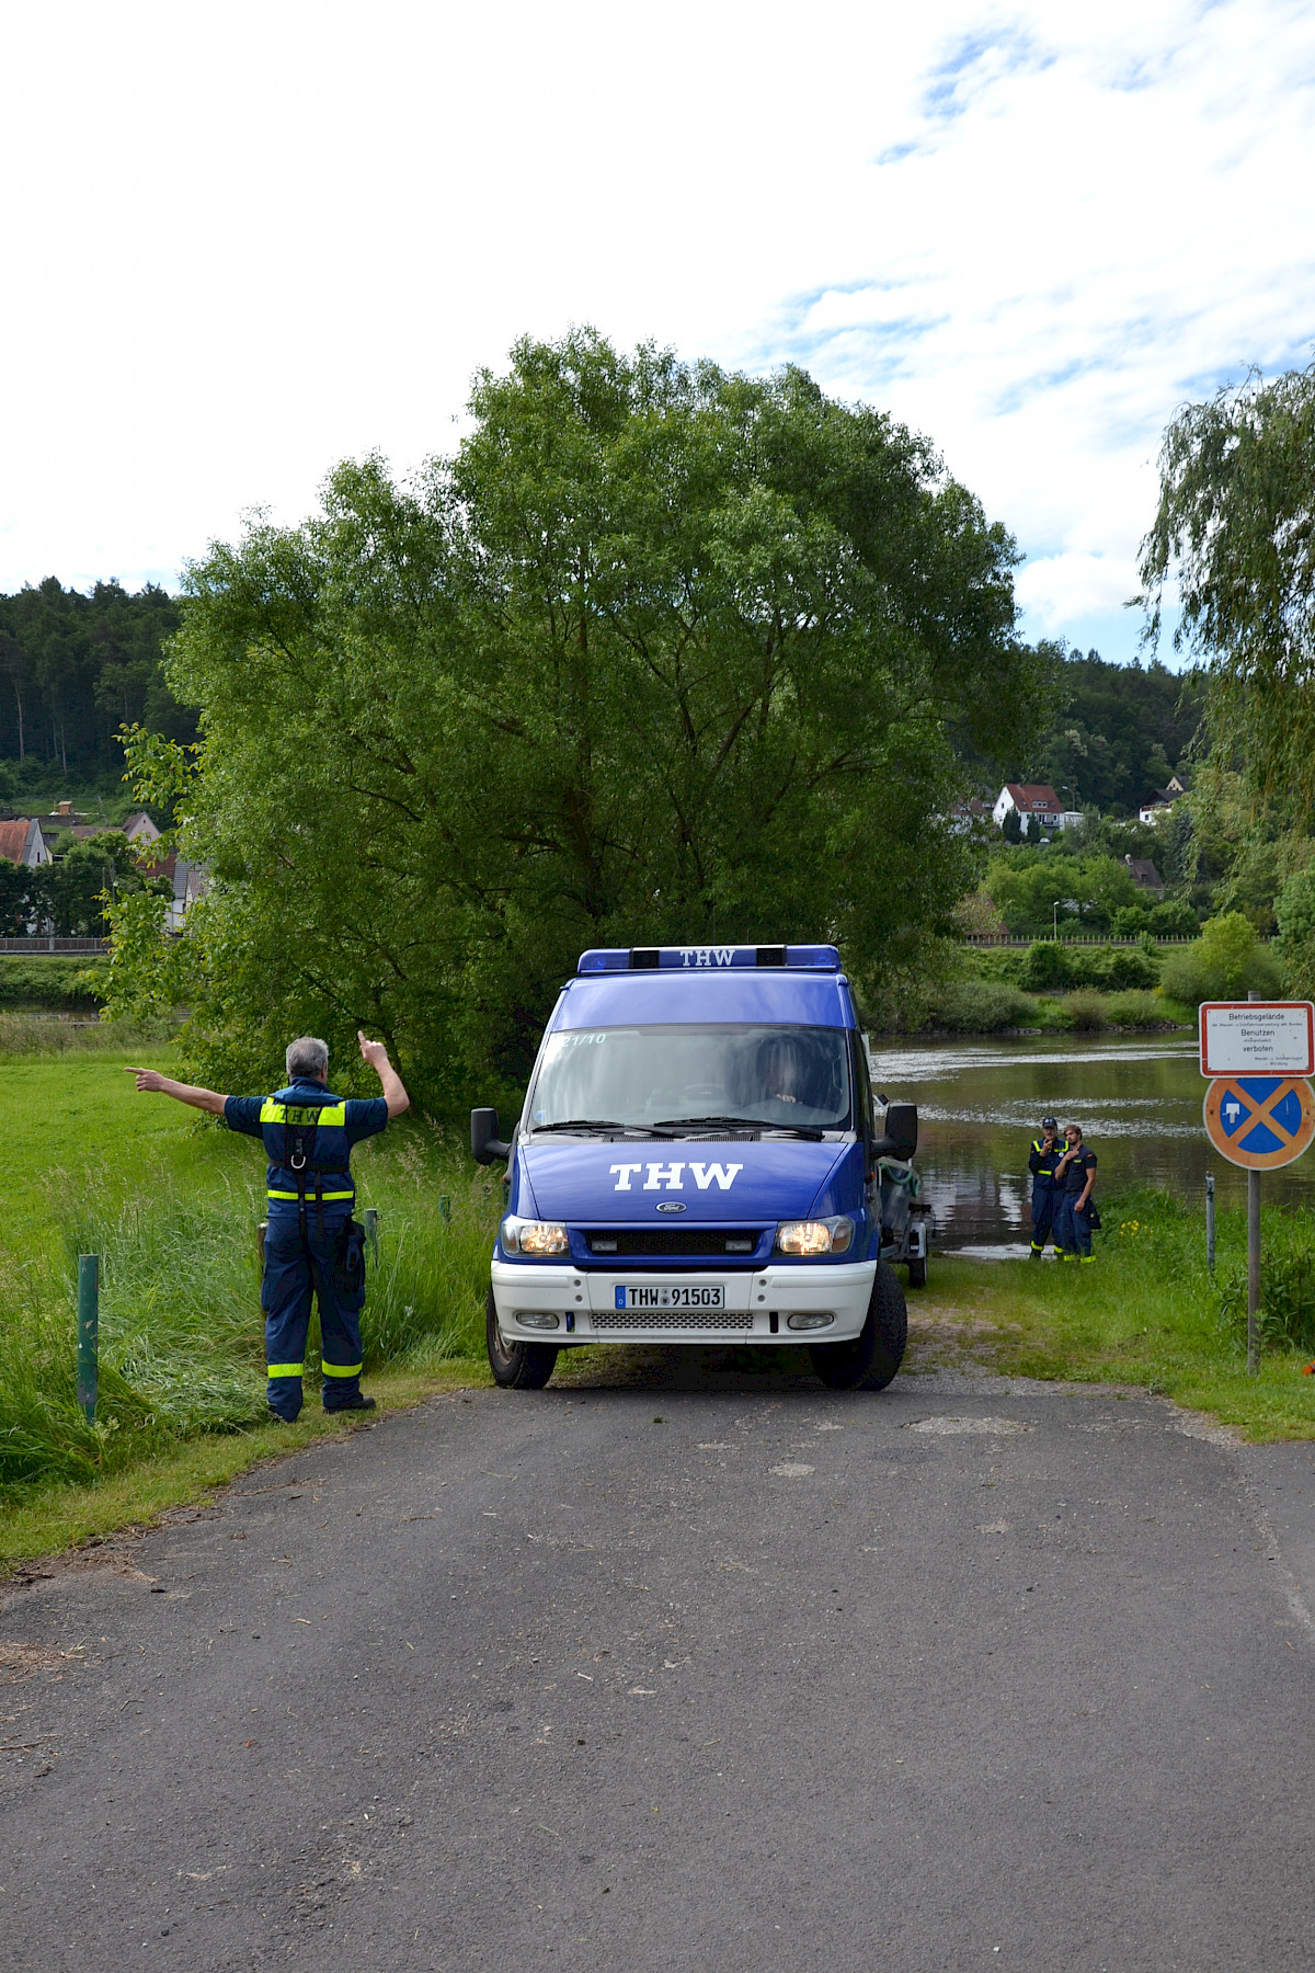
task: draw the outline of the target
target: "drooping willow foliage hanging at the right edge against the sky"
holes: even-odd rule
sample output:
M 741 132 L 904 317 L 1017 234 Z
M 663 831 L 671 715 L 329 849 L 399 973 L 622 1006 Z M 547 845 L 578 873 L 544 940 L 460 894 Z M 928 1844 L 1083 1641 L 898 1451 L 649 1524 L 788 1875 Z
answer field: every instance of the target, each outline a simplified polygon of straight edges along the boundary
M 1165 432 L 1142 545 L 1147 637 L 1177 578 L 1177 649 L 1211 665 L 1214 760 L 1256 813 L 1315 819 L 1315 365 L 1252 375 Z

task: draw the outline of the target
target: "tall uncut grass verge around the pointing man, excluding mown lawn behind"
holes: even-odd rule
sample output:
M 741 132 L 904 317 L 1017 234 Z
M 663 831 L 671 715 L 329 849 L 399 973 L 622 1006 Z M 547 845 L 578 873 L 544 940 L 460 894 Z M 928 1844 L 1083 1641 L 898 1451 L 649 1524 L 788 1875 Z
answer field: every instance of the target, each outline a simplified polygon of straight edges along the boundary
M 213 1133 L 205 1184 L 166 1164 L 132 1174 L 51 1172 L 59 1249 L 0 1275 L 0 1499 L 49 1482 L 91 1484 L 203 1432 L 266 1419 L 256 1225 L 264 1168 L 235 1166 Z M 473 1355 L 497 1192 L 422 1125 L 357 1152 L 359 1206 L 379 1209 L 379 1255 L 361 1322 L 367 1373 Z M 75 1403 L 77 1255 L 101 1255 L 101 1403 Z M 311 1316 L 311 1336 L 317 1318 Z M 317 1342 L 308 1361 L 317 1361 Z M 308 1377 L 308 1401 L 317 1377 Z

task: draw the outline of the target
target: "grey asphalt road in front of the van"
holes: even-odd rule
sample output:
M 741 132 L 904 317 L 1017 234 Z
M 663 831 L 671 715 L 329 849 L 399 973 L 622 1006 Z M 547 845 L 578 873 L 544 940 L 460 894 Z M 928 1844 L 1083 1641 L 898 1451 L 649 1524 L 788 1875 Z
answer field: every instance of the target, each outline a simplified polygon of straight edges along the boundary
M 10 1590 L 0 1965 L 1313 1965 L 1315 1448 L 716 1361 Z

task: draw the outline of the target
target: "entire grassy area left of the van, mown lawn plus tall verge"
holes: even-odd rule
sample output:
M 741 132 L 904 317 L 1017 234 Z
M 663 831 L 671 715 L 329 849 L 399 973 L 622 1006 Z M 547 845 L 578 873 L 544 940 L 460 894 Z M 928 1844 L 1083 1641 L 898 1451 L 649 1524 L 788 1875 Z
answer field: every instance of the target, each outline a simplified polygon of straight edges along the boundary
M 134 1474 L 146 1499 L 166 1470 L 191 1484 L 191 1466 L 179 1464 L 185 1446 L 231 1436 L 239 1444 L 213 1458 L 237 1460 L 233 1470 L 264 1448 L 260 1146 L 164 1097 L 138 1097 L 124 1065 L 142 1056 L 170 1067 L 168 1050 L 126 1050 L 122 1036 L 89 1052 L 0 1060 L 10 1174 L 0 1227 L 0 1555 L 12 1553 L 20 1521 L 39 1519 L 41 1499 L 116 1484 L 114 1498 L 138 1517 L 146 1507 L 132 1505 Z M 367 1375 L 392 1365 L 442 1381 L 446 1365 L 483 1352 L 497 1180 L 471 1172 L 453 1142 L 412 1119 L 353 1162 L 359 1204 L 377 1206 L 381 1223 L 363 1318 Z M 103 1271 L 95 1426 L 75 1405 L 79 1253 L 101 1255 Z M 311 1344 L 308 1359 L 315 1355 Z M 310 1403 L 315 1383 L 308 1377 Z M 51 1529 L 65 1525 L 59 1507 Z

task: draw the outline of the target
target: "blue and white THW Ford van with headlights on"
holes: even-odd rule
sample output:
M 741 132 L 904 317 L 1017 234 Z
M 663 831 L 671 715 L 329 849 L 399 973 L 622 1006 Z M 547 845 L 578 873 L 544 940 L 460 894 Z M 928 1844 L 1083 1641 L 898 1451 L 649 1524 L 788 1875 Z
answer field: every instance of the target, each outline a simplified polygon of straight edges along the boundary
M 883 1389 L 905 1353 L 881 1259 L 879 1158 L 911 1158 L 917 1109 L 877 1134 L 864 1038 L 834 945 L 580 955 L 552 1010 L 507 1160 L 489 1363 L 538 1389 L 593 1342 L 800 1344 L 834 1389 Z

